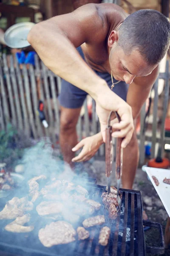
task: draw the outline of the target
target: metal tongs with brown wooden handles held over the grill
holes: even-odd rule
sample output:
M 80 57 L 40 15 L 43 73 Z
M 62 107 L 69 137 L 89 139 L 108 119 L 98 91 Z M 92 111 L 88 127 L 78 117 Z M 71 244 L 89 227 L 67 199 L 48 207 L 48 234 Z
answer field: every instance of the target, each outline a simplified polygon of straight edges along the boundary
M 115 113 L 118 121 L 120 122 L 120 116 L 116 111 L 111 111 L 108 116 L 108 123 L 106 127 L 106 143 L 105 143 L 105 160 L 106 160 L 106 177 L 108 177 L 108 194 L 111 192 L 111 172 L 112 172 L 112 126 L 111 126 L 111 115 Z M 122 138 L 117 138 L 116 140 L 116 179 L 117 179 L 117 201 L 120 206 L 121 199 L 119 196 L 119 189 L 122 176 L 122 160 L 123 160 L 123 150 L 121 148 Z

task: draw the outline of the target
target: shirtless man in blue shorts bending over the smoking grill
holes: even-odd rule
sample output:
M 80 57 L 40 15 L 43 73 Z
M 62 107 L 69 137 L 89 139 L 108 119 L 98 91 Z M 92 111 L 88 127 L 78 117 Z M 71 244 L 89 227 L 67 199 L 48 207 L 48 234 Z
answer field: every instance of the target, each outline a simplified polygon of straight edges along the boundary
M 87 4 L 38 23 L 28 41 L 45 65 L 64 79 L 59 96 L 64 160 L 71 165 L 77 120 L 90 94 L 96 101 L 102 132 L 102 136 L 95 135 L 96 144 L 105 141 L 109 111 L 118 111 L 121 116 L 122 121 L 113 124 L 120 131 L 113 130 L 112 136 L 125 137 L 122 187 L 132 189 L 139 157 L 133 120 L 147 99 L 158 76 L 158 64 L 170 45 L 166 17 L 154 10 L 127 15 L 114 4 Z M 111 75 L 113 83 L 120 81 L 113 91 Z

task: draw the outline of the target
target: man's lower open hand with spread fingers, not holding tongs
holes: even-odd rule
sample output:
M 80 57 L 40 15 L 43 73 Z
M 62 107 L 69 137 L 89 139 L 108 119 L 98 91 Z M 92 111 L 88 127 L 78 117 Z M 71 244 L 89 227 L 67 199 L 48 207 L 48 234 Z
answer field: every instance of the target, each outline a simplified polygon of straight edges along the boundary
M 74 157 L 72 159 L 72 162 L 82 162 L 82 161 L 88 161 L 93 157 L 97 150 L 99 149 L 100 145 L 102 145 L 102 134 L 98 133 L 91 137 L 87 137 L 83 140 L 81 140 L 74 148 L 72 148 L 72 151 L 77 151 L 80 148 L 82 148 L 82 151 L 79 153 L 77 157 Z

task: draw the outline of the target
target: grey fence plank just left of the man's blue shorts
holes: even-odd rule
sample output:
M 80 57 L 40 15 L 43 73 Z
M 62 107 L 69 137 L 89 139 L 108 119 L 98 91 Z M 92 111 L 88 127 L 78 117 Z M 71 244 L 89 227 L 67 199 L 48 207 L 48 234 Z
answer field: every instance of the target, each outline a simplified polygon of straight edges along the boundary
M 59 104 L 57 101 L 57 91 L 56 91 L 56 86 L 54 82 L 54 73 L 50 72 L 49 77 L 50 77 L 50 84 L 51 84 L 52 99 L 54 104 L 54 113 L 55 113 L 56 123 L 57 123 L 56 129 L 57 129 L 57 134 L 59 134 Z

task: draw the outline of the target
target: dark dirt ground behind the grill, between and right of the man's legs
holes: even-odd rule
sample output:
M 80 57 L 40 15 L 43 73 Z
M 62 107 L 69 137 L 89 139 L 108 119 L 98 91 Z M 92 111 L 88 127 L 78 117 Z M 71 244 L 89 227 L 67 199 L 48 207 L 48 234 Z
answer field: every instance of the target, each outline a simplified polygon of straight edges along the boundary
M 96 176 L 97 184 L 106 186 L 107 178 L 105 177 L 105 161 L 104 160 L 94 160 L 92 163 L 94 167 L 93 174 Z M 113 167 L 114 169 L 114 167 Z M 116 186 L 115 174 L 112 174 L 112 186 Z M 156 192 L 152 183 L 147 178 L 147 174 L 138 169 L 136 172 L 135 182 L 133 184 L 134 190 L 140 190 L 142 193 L 142 204 L 143 208 L 147 213 L 148 219 L 150 221 L 159 222 L 163 230 L 166 226 L 167 212 Z M 155 228 L 145 231 L 145 241 L 146 245 L 159 246 L 159 232 L 156 232 Z M 155 254 L 147 253 L 147 256 L 154 256 Z M 170 256 L 170 248 L 165 250 L 164 256 Z

